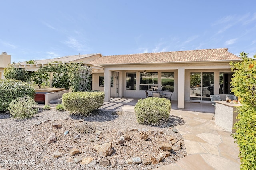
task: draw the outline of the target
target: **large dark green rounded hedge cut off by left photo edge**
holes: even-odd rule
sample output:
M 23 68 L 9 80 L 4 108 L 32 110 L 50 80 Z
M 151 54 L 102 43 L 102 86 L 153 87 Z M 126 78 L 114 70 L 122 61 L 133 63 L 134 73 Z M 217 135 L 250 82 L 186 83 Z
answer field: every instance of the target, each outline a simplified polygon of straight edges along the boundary
M 34 98 L 34 87 L 26 82 L 13 79 L 0 80 L 0 111 L 7 111 L 7 107 L 18 97 L 26 95 Z

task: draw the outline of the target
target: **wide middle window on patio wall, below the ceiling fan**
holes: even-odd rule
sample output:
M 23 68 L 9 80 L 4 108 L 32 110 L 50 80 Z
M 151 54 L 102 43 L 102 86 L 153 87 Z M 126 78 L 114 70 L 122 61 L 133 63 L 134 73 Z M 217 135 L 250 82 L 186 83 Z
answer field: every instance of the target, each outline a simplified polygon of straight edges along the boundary
M 157 90 L 157 72 L 140 72 L 140 90 Z

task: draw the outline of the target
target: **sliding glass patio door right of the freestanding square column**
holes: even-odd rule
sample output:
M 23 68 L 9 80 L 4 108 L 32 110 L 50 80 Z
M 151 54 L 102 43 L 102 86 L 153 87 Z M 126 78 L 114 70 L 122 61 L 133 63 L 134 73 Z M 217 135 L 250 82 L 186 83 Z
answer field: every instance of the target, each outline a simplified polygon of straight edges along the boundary
M 211 101 L 214 94 L 214 72 L 190 73 L 190 100 Z

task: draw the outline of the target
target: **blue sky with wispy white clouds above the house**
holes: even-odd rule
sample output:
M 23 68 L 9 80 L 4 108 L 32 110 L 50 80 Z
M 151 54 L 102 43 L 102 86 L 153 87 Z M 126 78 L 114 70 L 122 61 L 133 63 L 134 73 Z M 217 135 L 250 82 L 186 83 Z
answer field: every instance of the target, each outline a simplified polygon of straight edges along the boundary
M 256 53 L 256 0 L 0 0 L 12 61 L 228 48 Z

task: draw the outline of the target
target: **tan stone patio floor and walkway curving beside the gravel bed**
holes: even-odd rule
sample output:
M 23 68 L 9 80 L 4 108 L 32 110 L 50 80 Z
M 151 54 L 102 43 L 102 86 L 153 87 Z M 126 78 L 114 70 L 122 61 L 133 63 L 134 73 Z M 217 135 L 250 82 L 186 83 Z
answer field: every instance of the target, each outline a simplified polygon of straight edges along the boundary
M 112 98 L 101 109 L 134 112 L 138 99 Z M 239 170 L 239 148 L 230 132 L 215 125 L 212 120 L 214 107 L 206 103 L 185 103 L 185 109 L 177 109 L 172 101 L 171 115 L 186 123 L 176 129 L 183 136 L 187 156 L 178 162 L 155 170 Z M 209 111 L 209 113 L 205 113 Z

